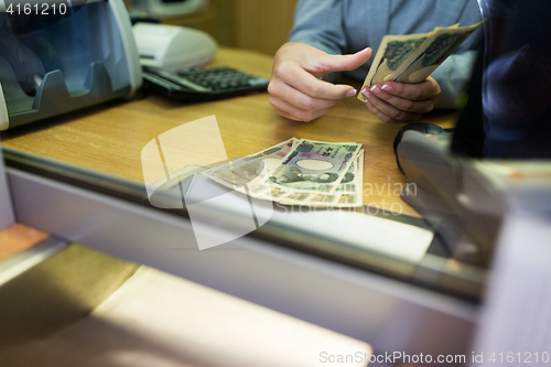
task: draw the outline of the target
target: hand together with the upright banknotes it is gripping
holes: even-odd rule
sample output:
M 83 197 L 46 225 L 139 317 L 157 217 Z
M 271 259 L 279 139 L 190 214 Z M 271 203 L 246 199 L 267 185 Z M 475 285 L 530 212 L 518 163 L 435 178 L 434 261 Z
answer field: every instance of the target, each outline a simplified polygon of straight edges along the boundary
M 375 55 L 358 99 L 387 123 L 421 118 L 434 108 L 439 83 L 430 75 L 482 23 L 436 26 L 419 34 L 386 35 Z

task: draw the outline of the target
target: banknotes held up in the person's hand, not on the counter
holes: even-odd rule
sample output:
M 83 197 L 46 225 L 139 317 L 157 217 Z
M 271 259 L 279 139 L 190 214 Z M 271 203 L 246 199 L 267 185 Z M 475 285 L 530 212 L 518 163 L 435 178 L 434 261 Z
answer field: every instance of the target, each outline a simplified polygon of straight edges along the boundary
M 430 33 L 386 35 L 363 88 L 385 82 L 420 83 L 426 79 L 482 24 L 435 28 Z M 358 99 L 366 101 L 361 94 Z

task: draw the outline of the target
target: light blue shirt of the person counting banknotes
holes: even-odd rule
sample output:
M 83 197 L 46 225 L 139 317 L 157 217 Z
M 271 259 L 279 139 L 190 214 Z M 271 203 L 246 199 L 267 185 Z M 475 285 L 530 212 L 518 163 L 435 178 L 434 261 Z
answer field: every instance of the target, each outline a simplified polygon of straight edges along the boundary
M 364 43 L 369 43 L 367 41 L 369 39 L 380 39 L 383 35 L 385 30 L 378 32 L 379 30 L 376 30 L 375 25 L 368 22 L 366 17 L 374 9 L 385 9 L 380 3 L 376 4 L 377 1 L 383 0 L 300 0 L 296 4 L 294 26 L 289 41 L 303 42 L 329 54 L 346 54 L 359 46 L 370 46 L 374 48 L 375 54 L 378 44 Z M 436 3 L 436 1 L 453 2 L 453 9 L 460 11 L 452 14 L 451 7 Z M 422 33 L 432 31 L 436 25 L 443 26 L 444 24 L 439 23 L 443 21 L 449 21 L 450 24 L 453 23 L 471 25 L 482 20 L 476 0 L 433 0 L 432 2 L 431 0 L 424 0 L 423 3 L 424 7 L 430 7 L 433 3 L 436 14 L 425 17 L 423 9 L 419 9 L 417 14 L 411 14 L 410 11 L 407 11 L 407 14 L 398 13 L 396 14 L 397 19 L 410 21 L 406 23 L 390 21 L 387 33 L 401 34 L 406 30 L 408 33 Z M 418 8 L 422 7 L 419 4 Z M 390 17 L 390 13 L 377 14 L 377 17 Z M 358 30 L 364 30 L 364 33 Z M 435 100 L 436 109 L 455 108 L 456 97 L 471 77 L 476 58 L 476 51 L 474 50 L 480 40 L 480 35 L 482 29 L 475 32 L 455 54 L 450 56 L 432 74 L 442 89 L 441 96 Z M 369 65 L 365 65 L 346 74 L 353 78 L 363 79 L 367 75 L 368 68 Z M 325 79 L 336 80 L 337 77 L 337 73 L 333 73 Z

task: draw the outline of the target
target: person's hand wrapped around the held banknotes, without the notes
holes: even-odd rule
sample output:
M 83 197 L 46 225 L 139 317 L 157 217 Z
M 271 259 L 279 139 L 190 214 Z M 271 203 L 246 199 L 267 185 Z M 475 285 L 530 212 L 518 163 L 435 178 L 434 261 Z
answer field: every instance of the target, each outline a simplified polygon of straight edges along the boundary
M 366 105 L 382 122 L 414 121 L 432 111 L 440 85 L 431 76 L 418 84 L 387 82 L 363 89 Z

